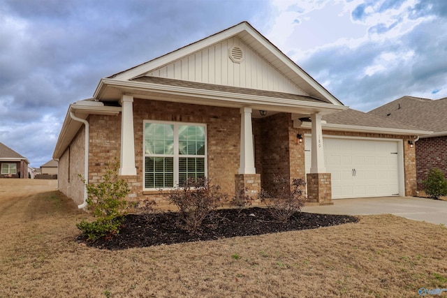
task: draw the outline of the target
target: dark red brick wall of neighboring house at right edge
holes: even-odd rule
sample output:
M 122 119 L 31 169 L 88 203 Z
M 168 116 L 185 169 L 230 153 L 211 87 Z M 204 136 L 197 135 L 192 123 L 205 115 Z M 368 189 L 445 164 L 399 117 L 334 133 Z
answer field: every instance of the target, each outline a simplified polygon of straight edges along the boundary
M 415 142 L 416 177 L 418 190 L 424 189 L 422 181 L 427 179 L 427 172 L 437 167 L 447 174 L 447 137 L 424 137 Z

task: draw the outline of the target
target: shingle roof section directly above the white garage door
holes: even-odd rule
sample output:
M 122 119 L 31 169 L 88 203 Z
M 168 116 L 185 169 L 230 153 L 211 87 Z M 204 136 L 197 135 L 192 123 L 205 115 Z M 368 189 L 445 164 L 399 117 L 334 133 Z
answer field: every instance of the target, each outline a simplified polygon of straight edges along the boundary
M 377 127 L 377 128 L 395 128 L 395 129 L 408 129 L 408 130 L 421 130 L 416 126 L 400 123 L 390 119 L 383 119 L 382 117 L 374 114 L 367 114 L 358 110 L 348 109 L 342 112 L 335 112 L 323 116 L 328 124 L 342 124 L 351 126 L 365 126 L 365 127 Z

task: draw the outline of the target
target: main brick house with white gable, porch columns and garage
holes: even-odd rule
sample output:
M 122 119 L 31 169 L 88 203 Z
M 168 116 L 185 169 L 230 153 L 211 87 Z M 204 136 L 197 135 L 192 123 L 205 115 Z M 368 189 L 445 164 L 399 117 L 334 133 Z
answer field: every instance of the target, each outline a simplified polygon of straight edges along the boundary
M 280 174 L 307 179 L 309 203 L 331 204 L 414 195 L 406 142 L 425 133 L 349 109 L 242 22 L 101 79 L 92 98 L 68 107 L 53 158 L 59 189 L 80 207 L 78 174 L 101 181 L 114 158 L 128 200 L 163 204 L 160 190 L 187 177 L 256 196 Z

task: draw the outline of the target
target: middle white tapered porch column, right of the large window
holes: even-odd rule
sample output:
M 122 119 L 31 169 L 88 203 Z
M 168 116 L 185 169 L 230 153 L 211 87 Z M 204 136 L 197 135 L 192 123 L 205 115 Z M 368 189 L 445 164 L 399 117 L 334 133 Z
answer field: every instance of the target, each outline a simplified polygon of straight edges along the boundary
M 239 174 L 256 174 L 254 167 L 251 107 L 240 109 L 240 168 Z

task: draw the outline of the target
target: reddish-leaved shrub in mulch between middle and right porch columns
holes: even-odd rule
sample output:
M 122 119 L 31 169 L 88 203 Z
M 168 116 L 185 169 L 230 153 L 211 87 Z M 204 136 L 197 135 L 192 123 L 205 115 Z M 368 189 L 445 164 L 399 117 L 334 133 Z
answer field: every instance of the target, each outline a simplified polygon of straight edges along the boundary
M 277 221 L 286 222 L 304 206 L 302 186 L 305 185 L 306 182 L 303 179 L 294 178 L 290 184 L 288 179 L 275 175 L 270 189 L 275 189 L 276 192 L 270 194 L 262 190 L 261 200 Z

